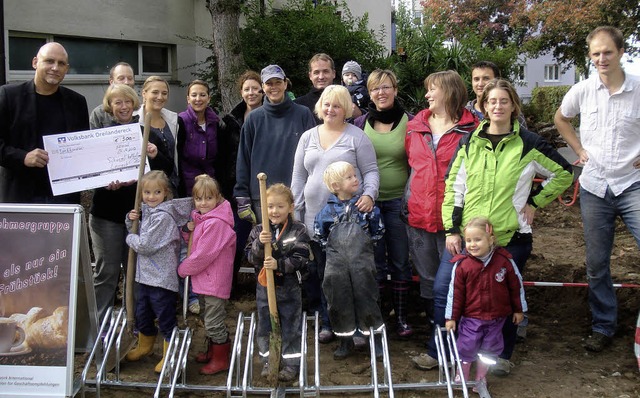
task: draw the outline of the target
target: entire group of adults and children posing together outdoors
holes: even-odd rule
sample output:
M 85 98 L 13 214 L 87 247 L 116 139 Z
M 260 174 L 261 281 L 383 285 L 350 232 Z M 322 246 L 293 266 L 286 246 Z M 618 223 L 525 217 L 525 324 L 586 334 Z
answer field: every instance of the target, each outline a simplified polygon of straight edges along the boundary
M 555 121 L 585 165 L 580 195 L 593 316 L 585 347 L 597 352 L 616 331 L 610 253 L 617 216 L 640 245 L 640 82 L 621 67 L 618 29 L 595 29 L 587 45 L 597 73 L 567 93 Z M 339 339 L 335 359 L 351 355 L 363 336 L 383 326 L 387 290 L 397 335 L 411 336 L 408 313 L 418 309 L 408 300 L 414 269 L 420 310 L 430 324 L 458 334 L 457 378 L 469 377 L 479 354 L 495 359 L 494 374 L 509 374 L 518 326 L 522 331 L 527 321 L 521 275 L 532 251 L 531 225 L 536 210 L 558 197 L 573 175 L 549 143 L 527 130 L 514 87 L 493 63 L 473 66 L 472 101 L 455 71 L 427 76 L 429 106 L 414 116 L 397 98 L 393 71 L 373 70 L 365 84 L 360 65 L 349 61 L 342 84 L 333 84 L 333 60 L 316 54 L 309 93 L 292 100 L 284 70 L 269 65 L 240 77 L 243 100 L 223 117 L 209 107 L 209 87 L 199 80 L 188 86 L 180 114 L 165 109 L 169 85 L 157 76 L 146 79 L 140 105 L 133 69 L 120 63 L 90 119 L 86 101 L 60 86 L 68 70 L 60 44 L 43 46 L 33 67 L 32 81 L 0 88 L 2 202 L 78 203 L 75 194 L 52 195 L 42 136 L 142 123 L 151 115 L 146 152 L 152 171 L 141 181 L 95 190 L 89 221 L 101 319 L 114 304 L 128 247 L 138 252 L 139 344 L 129 360 L 153 351 L 154 319 L 166 352 L 178 277 L 191 276 L 204 301 L 200 372 L 228 369 L 224 306 L 234 267 L 246 256 L 257 275 L 264 376 L 271 327 L 266 269 L 275 274 L 283 325 L 282 381 L 299 372 L 304 305 L 319 314 L 322 343 Z M 580 137 L 570 123 L 577 114 Z M 260 172 L 271 184 L 268 220 L 261 216 Z M 140 211 L 132 210 L 137 184 Z M 265 257 L 266 245 L 271 256 Z M 381 356 L 377 335 L 375 343 Z M 437 358 L 431 333 L 428 351 L 412 361 L 428 370 Z M 485 382 L 487 372 L 478 361 L 476 380 Z

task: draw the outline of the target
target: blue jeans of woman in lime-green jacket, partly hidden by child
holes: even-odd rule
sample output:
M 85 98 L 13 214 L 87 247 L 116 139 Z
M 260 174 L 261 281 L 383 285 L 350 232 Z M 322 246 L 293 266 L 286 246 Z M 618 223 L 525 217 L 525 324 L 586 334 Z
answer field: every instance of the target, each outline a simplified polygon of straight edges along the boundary
M 463 241 L 464 244 L 464 241 Z M 525 264 L 531 254 L 532 240 L 530 235 L 519 235 L 516 233 L 511 242 L 504 248 L 513 257 L 513 262 L 516 263 L 520 274 L 524 272 Z M 453 263 L 451 259 L 453 256 L 448 250 L 444 251 L 442 259 L 440 260 L 440 267 L 436 273 L 436 280 L 433 286 L 433 322 L 436 325 L 444 326 L 445 308 L 447 306 L 447 296 L 449 294 L 449 284 L 451 283 L 451 271 L 453 270 Z M 516 344 L 516 332 L 518 327 L 513 324 L 511 316 L 507 317 L 504 327 L 502 328 L 502 336 L 504 338 L 504 349 L 500 354 L 500 358 L 510 359 L 513 354 L 513 349 Z M 431 333 L 431 339 L 429 340 L 429 347 L 427 353 L 432 358 L 437 358 L 435 333 Z

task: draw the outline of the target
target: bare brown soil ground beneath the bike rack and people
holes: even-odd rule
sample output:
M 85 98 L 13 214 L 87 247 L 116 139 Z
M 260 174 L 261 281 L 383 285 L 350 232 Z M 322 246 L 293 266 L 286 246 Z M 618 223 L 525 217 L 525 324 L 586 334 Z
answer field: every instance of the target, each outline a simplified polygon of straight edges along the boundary
M 555 201 L 538 211 L 534 223 L 534 249 L 524 272 L 527 281 L 586 282 L 585 251 L 579 203 L 566 207 Z M 612 254 L 612 273 L 616 283 L 640 284 L 640 254 L 632 236 L 623 224 L 616 229 Z M 416 287 L 417 290 L 417 287 Z M 590 332 L 590 311 L 587 289 L 584 287 L 527 287 L 529 327 L 525 342 L 516 346 L 514 367 L 507 377 L 488 376 L 492 397 L 640 397 L 640 373 L 633 354 L 635 322 L 640 309 L 640 291 L 618 290 L 619 330 L 613 345 L 598 354 L 582 347 Z M 416 294 L 416 293 L 414 293 Z M 416 294 L 417 298 L 417 294 Z M 418 302 L 414 300 L 413 302 Z M 245 278 L 236 298 L 229 303 L 229 328 L 235 330 L 239 311 L 249 314 L 255 309 L 252 278 Z M 437 371 L 414 368 L 410 357 L 425 351 L 427 327 L 424 314 L 416 308 L 410 321 L 416 333 L 408 340 L 398 339 L 390 328 L 390 356 L 393 382 L 416 383 L 437 381 Z M 194 315 L 188 318 L 195 329 L 189 353 L 187 383 L 198 385 L 225 384 L 226 373 L 216 376 L 198 374 L 199 364 L 193 361 L 204 345 L 203 326 Z M 392 322 L 388 323 L 393 325 Z M 344 361 L 335 361 L 332 353 L 336 343 L 321 345 L 321 384 L 369 384 L 369 358 L 366 352 Z M 154 382 L 153 367 L 160 359 L 160 344 L 156 354 L 138 363 L 123 361 L 121 377 L 124 381 Z M 312 352 L 310 350 L 310 352 Z M 81 371 L 84 356 L 78 355 L 76 368 Z M 256 359 L 257 362 L 257 359 Z M 312 366 L 310 366 L 312 368 Z M 254 367 L 255 386 L 265 381 Z M 101 396 L 151 396 L 150 389 L 119 389 L 103 387 Z M 163 394 L 166 396 L 166 392 Z M 201 391 L 179 392 L 176 396 L 210 396 Z M 215 394 L 214 394 L 215 395 Z M 344 395 L 344 394 L 341 394 Z M 371 396 L 370 393 L 352 396 Z M 88 392 L 88 397 L 95 393 Z M 338 396 L 323 394 L 323 396 Z M 446 390 L 402 390 L 396 397 L 446 397 Z M 456 396 L 462 396 L 457 392 Z M 470 396 L 477 396 L 471 394 Z

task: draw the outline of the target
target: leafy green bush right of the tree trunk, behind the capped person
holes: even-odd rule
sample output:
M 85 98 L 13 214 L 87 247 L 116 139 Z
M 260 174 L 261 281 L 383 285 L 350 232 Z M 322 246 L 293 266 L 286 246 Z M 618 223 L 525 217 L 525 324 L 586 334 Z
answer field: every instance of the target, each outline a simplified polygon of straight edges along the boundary
M 382 59 L 381 34 L 368 30 L 368 17 L 354 17 L 344 1 L 314 7 L 310 1 L 289 0 L 281 10 L 267 13 L 261 12 L 256 3 L 247 6 L 247 23 L 240 31 L 247 65 L 260 71 L 278 64 L 293 83 L 296 96 L 306 94 L 311 87 L 308 62 L 316 53 L 333 58 L 336 81 L 349 60 L 370 71 Z

